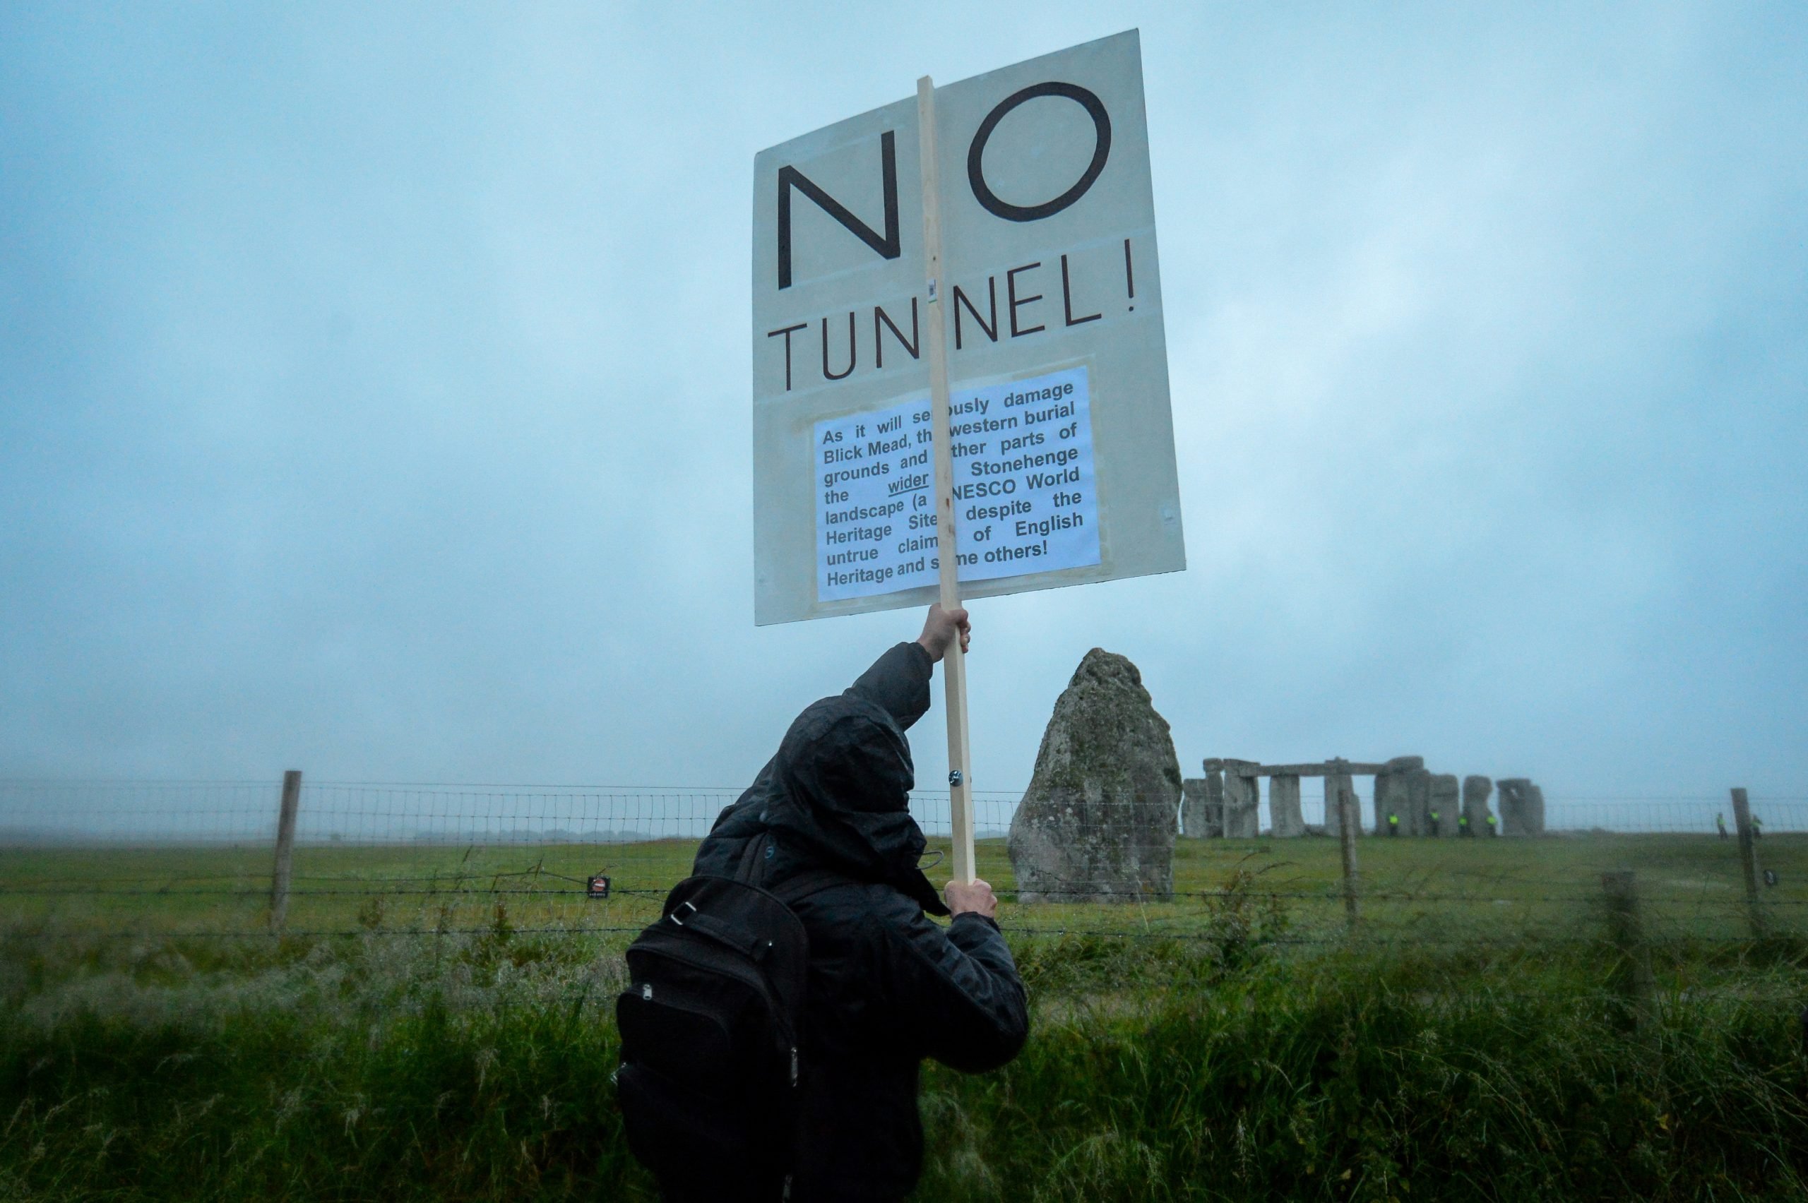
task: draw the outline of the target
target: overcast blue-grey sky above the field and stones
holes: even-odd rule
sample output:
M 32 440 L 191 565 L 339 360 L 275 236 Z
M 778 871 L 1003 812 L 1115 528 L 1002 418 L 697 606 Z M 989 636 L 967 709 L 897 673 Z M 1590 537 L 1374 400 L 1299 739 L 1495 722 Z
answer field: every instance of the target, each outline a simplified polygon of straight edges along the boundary
M 0 775 L 743 782 L 917 623 L 752 625 L 754 152 L 1139 25 L 1190 569 L 976 603 L 976 784 L 1103 645 L 1803 793 L 1799 5 L 973 9 L 0 9 Z

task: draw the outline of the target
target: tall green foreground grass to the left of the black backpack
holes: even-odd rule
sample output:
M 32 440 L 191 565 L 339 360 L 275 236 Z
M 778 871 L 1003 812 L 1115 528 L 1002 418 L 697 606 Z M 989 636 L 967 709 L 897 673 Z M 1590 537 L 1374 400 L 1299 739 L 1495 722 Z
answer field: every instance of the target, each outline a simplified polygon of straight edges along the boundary
M 591 1198 L 618 956 L 506 934 L 7 950 L 0 1196 Z

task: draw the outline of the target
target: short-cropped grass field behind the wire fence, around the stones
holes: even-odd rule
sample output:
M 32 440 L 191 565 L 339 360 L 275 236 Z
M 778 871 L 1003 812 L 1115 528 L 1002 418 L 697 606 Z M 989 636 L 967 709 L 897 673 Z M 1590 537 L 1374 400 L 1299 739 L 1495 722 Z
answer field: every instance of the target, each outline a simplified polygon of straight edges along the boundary
M 515 928 L 633 928 L 658 916 L 689 872 L 689 840 L 544 847 L 315 845 L 295 854 L 289 928 L 472 930 L 506 907 Z M 931 840 L 931 854 L 946 840 Z M 1014 889 L 1003 840 L 976 847 L 980 876 L 1007 901 Z M 1360 842 L 1361 916 L 1381 939 L 1521 939 L 1591 934 L 1600 874 L 1633 869 L 1653 937 L 1748 932 L 1737 844 L 1694 835 L 1578 835 L 1542 840 Z M 1808 836 L 1759 842 L 1772 921 L 1808 921 Z M 1278 894 L 1296 939 L 1340 934 L 1342 865 L 1334 840 L 1181 840 L 1175 900 L 1141 905 L 1014 907 L 1005 925 L 1032 930 L 1195 934 L 1213 916 L 1208 894 L 1242 869 L 1248 891 Z M 90 932 L 260 932 L 268 918 L 268 847 L 0 849 L 0 923 Z M 582 881 L 607 872 L 613 894 L 588 900 Z M 935 871 L 931 869 L 931 876 Z M 1202 896 L 1206 894 L 1206 896 Z

